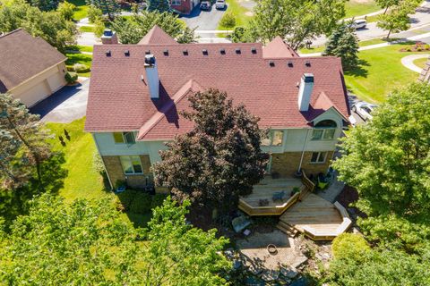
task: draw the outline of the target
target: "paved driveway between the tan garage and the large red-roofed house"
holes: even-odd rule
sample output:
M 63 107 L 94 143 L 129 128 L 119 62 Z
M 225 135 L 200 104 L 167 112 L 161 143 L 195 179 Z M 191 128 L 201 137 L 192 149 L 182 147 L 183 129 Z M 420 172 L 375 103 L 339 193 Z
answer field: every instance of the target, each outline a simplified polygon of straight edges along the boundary
M 39 114 L 42 122 L 68 123 L 80 119 L 87 110 L 89 86 L 89 79 L 75 86 L 65 86 L 31 107 L 30 112 Z

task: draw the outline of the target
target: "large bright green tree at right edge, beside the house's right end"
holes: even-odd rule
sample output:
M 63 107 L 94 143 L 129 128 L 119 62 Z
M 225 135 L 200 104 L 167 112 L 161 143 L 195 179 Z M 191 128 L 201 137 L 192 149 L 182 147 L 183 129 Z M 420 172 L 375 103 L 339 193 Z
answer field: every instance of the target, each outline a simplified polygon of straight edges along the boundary
M 426 217 L 430 207 L 430 88 L 396 90 L 342 139 L 333 163 L 340 180 L 357 189 L 357 206 L 369 216 Z

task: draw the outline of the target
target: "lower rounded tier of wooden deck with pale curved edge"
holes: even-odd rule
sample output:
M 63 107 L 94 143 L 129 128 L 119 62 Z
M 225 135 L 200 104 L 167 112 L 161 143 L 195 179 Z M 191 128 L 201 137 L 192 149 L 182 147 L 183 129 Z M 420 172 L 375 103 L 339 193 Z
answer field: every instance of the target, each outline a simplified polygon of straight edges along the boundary
M 333 205 L 311 193 L 280 216 L 279 226 L 287 230 L 293 227 L 313 240 L 332 240 L 350 224 L 348 213 L 339 203 Z

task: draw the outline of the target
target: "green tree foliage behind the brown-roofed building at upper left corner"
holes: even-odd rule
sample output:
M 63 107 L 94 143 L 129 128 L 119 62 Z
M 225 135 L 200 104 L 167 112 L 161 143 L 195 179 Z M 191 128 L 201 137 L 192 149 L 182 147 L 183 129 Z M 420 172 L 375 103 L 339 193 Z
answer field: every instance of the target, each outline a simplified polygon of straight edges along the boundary
M 45 39 L 63 53 L 66 46 L 74 44 L 77 35 L 73 21 L 67 21 L 59 12 L 41 12 L 24 0 L 0 5 L 0 31 L 10 32 L 18 28 L 25 29 L 33 37 Z

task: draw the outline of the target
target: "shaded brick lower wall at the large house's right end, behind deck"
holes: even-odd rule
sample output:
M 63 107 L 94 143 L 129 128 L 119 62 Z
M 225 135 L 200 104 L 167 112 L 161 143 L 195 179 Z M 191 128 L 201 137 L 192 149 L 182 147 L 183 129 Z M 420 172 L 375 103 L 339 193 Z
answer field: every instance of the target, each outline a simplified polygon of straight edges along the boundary
M 323 164 L 311 163 L 313 152 L 305 152 L 303 156 L 302 169 L 307 175 L 318 174 L 319 172 L 327 172 L 331 164 L 333 151 L 329 151 L 326 160 Z M 300 164 L 301 152 L 286 152 L 281 154 L 273 154 L 271 156 L 271 172 L 279 173 L 281 177 L 291 177 L 297 172 Z

